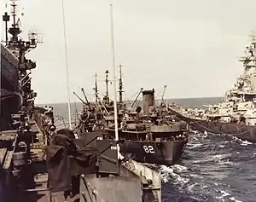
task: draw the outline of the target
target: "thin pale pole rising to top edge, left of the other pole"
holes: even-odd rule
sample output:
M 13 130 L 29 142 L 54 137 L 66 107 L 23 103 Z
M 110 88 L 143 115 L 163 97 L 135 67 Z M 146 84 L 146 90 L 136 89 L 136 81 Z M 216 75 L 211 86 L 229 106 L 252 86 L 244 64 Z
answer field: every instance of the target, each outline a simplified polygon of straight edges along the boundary
M 68 74 L 68 61 L 67 61 L 67 34 L 66 34 L 66 23 L 65 23 L 65 7 L 64 0 L 62 3 L 62 23 L 63 23 L 63 34 L 64 34 L 64 45 L 65 45 L 65 59 L 66 59 L 66 80 L 67 80 L 67 107 L 68 107 L 68 120 L 69 120 L 69 129 L 72 130 L 71 124 L 71 104 L 70 104 L 70 86 L 69 86 L 69 74 Z

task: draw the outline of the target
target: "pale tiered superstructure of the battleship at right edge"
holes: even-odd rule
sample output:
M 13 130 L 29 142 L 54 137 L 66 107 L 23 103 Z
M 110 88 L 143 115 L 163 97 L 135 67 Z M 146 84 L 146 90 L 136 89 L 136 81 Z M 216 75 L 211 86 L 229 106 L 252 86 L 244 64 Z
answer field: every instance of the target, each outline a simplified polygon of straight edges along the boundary
M 237 78 L 236 84 L 224 95 L 224 101 L 218 105 L 209 106 L 206 118 L 219 118 L 222 122 L 241 122 L 245 118 L 245 124 L 255 125 L 256 116 L 256 37 L 246 47 L 245 53 L 239 61 L 243 63 L 243 73 Z M 256 115 L 256 114 L 255 114 Z

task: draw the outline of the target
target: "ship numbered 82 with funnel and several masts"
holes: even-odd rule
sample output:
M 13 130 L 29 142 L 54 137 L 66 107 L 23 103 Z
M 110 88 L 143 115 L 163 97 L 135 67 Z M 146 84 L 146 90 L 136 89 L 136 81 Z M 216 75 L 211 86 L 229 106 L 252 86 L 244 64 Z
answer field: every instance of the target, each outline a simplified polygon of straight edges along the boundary
M 124 91 L 121 67 L 119 66 L 118 103 L 120 153 L 142 163 L 166 165 L 177 163 L 188 142 L 187 124 L 175 120 L 167 112 L 163 101 L 160 107 L 156 107 L 154 89 L 139 91 L 137 99 L 140 94 L 143 94 L 143 107 L 134 108 L 134 104 L 126 107 L 122 95 Z M 106 71 L 105 81 L 107 90 L 102 101 L 97 95 L 97 84 L 95 86 L 96 103 L 89 103 L 84 89 L 82 90 L 86 102 L 79 97 L 79 100 L 84 102 L 84 111 L 79 121 L 79 134 L 84 135 L 86 131 L 97 130 L 103 131 L 104 139 L 114 138 L 113 103 L 108 95 L 108 71 Z M 136 103 L 137 99 L 133 103 Z

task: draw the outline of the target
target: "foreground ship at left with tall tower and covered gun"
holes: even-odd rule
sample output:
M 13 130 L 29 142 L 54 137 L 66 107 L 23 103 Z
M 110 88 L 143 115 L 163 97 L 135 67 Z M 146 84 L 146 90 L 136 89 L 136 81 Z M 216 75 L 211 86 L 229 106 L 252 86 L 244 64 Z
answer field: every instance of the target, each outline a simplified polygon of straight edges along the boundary
M 11 7 L 13 24 L 8 27 L 5 12 L 1 43 L 1 201 L 160 202 L 160 174 L 119 159 L 118 141 L 86 142 L 70 129 L 56 131 L 53 108 L 35 106 L 31 72 L 37 65 L 26 53 L 38 38 L 34 32 L 27 41 L 19 37 L 17 4 Z

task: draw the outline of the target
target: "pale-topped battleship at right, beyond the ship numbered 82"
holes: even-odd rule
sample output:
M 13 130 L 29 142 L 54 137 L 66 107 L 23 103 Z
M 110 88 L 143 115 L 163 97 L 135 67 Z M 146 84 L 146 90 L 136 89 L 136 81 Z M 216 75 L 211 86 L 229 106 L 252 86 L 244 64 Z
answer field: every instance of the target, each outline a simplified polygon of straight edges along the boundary
M 183 119 L 193 130 L 236 136 L 243 141 L 256 142 L 256 37 L 239 61 L 244 71 L 228 90 L 223 101 L 207 109 L 183 109 L 169 105 L 172 113 Z

